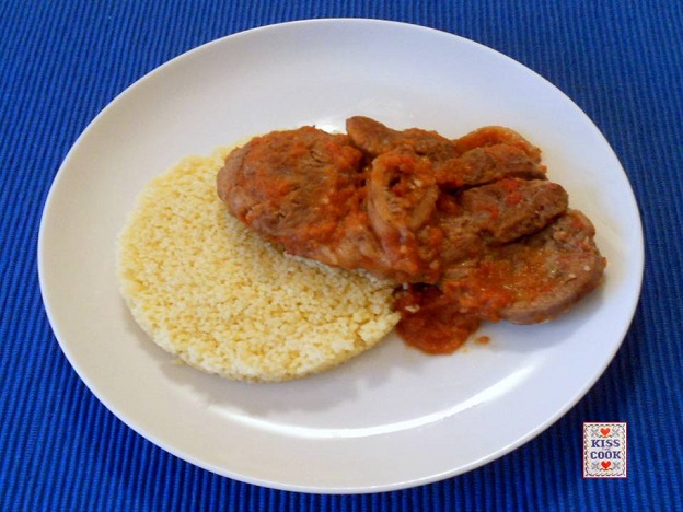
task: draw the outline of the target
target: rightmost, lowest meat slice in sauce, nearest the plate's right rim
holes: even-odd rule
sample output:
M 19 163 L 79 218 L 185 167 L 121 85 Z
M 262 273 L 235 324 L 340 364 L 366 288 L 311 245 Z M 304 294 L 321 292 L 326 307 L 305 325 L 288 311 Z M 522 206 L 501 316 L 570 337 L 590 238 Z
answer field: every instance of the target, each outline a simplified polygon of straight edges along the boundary
M 448 268 L 441 288 L 452 307 L 481 318 L 555 318 L 602 281 L 606 260 L 594 234 L 583 213 L 568 210 L 534 235 Z

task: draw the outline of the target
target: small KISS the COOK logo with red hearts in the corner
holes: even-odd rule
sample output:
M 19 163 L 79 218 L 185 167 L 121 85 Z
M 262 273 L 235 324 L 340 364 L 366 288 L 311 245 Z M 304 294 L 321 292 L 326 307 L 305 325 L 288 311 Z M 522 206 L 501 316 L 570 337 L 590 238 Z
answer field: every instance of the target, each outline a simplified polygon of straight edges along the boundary
M 626 423 L 583 423 L 583 477 L 626 478 Z

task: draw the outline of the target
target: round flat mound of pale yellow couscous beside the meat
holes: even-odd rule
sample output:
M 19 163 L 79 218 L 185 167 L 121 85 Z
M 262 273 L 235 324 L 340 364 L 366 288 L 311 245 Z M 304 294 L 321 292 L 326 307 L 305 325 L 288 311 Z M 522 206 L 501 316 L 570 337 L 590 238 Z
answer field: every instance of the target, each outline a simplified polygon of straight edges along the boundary
M 141 328 L 187 364 L 277 382 L 370 349 L 400 319 L 393 283 L 288 256 L 227 211 L 228 149 L 190 156 L 142 191 L 118 238 L 121 294 Z

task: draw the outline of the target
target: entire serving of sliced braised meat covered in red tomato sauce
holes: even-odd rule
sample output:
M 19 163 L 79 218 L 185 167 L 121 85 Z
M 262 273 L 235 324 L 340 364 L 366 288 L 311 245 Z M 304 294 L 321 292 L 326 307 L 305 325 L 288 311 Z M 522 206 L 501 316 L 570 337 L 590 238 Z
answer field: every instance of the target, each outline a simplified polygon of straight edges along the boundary
M 600 283 L 592 224 L 519 133 L 494 126 L 449 140 L 360 116 L 347 131 L 253 139 L 225 160 L 219 196 L 291 254 L 403 283 L 395 309 L 408 345 L 451 353 L 482 322 L 544 322 Z

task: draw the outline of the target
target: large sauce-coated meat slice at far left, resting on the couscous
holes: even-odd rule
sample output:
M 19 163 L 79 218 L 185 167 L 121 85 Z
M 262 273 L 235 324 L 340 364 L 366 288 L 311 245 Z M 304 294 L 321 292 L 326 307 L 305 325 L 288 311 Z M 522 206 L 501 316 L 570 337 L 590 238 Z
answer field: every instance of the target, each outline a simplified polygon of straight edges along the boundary
M 312 127 L 274 131 L 225 159 L 218 194 L 234 217 L 292 254 L 355 267 L 380 259 L 360 210 L 361 160 L 344 135 Z M 339 226 L 354 222 L 358 249 L 345 254 L 336 249 Z

